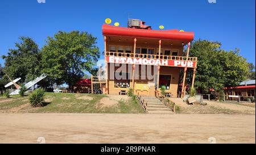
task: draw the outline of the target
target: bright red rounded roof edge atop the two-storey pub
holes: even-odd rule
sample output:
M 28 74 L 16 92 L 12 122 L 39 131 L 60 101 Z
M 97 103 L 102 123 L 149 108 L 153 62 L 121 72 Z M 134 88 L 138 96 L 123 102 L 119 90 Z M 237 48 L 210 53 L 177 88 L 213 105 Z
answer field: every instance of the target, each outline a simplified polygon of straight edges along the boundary
M 103 24 L 102 33 L 106 36 L 140 37 L 150 39 L 180 40 L 191 42 L 194 32 L 179 32 L 178 30 L 145 30 L 126 28 Z

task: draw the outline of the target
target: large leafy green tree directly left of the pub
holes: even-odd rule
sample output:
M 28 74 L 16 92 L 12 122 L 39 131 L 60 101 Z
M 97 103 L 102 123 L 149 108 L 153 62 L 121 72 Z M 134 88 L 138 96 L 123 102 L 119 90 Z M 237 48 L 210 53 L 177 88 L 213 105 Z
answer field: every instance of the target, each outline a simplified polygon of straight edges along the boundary
M 82 70 L 91 72 L 100 57 L 96 39 L 79 31 L 59 31 L 54 37 L 48 37 L 42 49 L 42 71 L 57 85 L 67 83 L 72 87 L 84 76 Z

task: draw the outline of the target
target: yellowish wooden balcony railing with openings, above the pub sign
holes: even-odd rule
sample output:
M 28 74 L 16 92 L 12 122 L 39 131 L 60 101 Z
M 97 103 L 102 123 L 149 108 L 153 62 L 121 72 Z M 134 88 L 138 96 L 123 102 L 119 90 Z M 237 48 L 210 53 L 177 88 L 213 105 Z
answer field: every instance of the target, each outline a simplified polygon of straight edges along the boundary
M 121 53 L 121 52 L 105 52 L 105 56 L 115 56 L 115 57 L 131 57 L 131 58 L 152 58 L 161 60 L 180 60 L 180 61 L 197 61 L 197 57 L 184 57 L 184 56 L 165 56 L 165 55 L 147 55 L 139 53 Z

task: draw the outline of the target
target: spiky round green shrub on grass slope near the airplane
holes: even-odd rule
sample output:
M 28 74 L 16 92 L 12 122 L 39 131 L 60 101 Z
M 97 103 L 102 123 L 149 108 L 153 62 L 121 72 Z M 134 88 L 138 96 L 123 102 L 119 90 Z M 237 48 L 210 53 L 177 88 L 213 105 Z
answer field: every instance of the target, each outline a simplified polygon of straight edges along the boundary
M 30 95 L 30 104 L 32 107 L 42 107 L 44 103 L 45 89 L 39 88 L 32 92 Z

